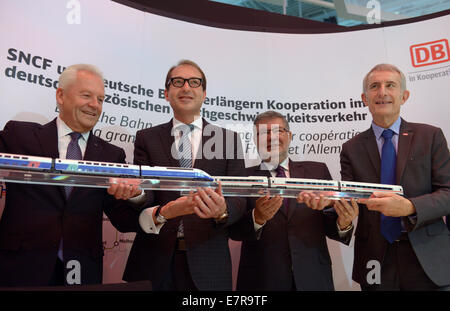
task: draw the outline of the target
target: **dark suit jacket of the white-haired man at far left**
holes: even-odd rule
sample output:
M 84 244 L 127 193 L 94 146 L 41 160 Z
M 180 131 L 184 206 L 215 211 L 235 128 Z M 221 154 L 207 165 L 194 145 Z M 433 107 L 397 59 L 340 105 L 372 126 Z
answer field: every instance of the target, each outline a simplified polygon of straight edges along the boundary
M 45 125 L 10 121 L 0 152 L 58 158 L 56 119 Z M 84 159 L 125 161 L 123 149 L 89 135 Z M 102 282 L 102 224 L 118 203 L 106 189 L 7 183 L 0 220 L 0 286 L 48 285 L 63 238 L 65 263 L 78 260 L 81 283 Z

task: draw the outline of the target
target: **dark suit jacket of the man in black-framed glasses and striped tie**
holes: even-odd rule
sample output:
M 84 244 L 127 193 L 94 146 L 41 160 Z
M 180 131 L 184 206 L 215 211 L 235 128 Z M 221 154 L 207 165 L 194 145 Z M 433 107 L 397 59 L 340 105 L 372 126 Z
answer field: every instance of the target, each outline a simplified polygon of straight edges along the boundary
M 203 120 L 204 129 L 208 122 Z M 211 133 L 203 131 L 199 152 L 212 147 L 216 158 L 211 154 L 198 154 L 195 168 L 202 169 L 212 176 L 240 176 L 245 171 L 242 148 L 236 133 L 212 126 Z M 136 134 L 134 162 L 139 165 L 179 166 L 171 154 L 174 137 L 171 135 L 172 121 Z M 230 142 L 230 137 L 234 141 Z M 216 141 L 216 145 L 212 144 Z M 206 148 L 205 145 L 207 146 Z M 222 149 L 222 150 L 220 150 Z M 239 155 L 239 156 L 238 156 Z M 162 207 L 180 196 L 175 191 L 153 191 L 143 208 L 159 205 Z M 231 257 L 228 247 L 228 226 L 236 222 L 245 211 L 244 199 L 226 198 L 229 218 L 225 224 L 217 224 L 213 219 L 201 219 L 195 214 L 170 219 L 159 234 L 147 234 L 140 227 L 137 231 L 123 279 L 126 281 L 151 280 L 158 286 L 170 269 L 175 251 L 177 228 L 183 220 L 187 246 L 187 259 L 192 279 L 200 290 L 231 290 Z M 135 224 L 137 223 L 137 216 Z M 130 223 L 129 223 L 130 224 Z M 133 222 L 131 223 L 133 224 Z M 124 224 L 126 225 L 126 224 Z M 125 228 L 126 229 L 126 228 Z

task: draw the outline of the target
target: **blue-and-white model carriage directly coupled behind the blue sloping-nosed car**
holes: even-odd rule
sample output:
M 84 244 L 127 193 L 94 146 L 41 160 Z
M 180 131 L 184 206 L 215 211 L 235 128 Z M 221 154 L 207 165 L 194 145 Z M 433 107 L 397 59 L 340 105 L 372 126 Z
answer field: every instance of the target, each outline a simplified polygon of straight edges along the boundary
M 55 160 L 55 171 L 69 174 L 107 175 L 117 177 L 139 177 L 139 166 L 81 160 Z

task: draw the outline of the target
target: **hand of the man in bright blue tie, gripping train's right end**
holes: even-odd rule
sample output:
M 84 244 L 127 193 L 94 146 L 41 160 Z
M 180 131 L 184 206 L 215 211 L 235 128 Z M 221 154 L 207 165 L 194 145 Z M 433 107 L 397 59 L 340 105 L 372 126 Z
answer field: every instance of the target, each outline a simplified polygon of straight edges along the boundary
M 359 199 L 371 211 L 378 211 L 385 216 L 402 217 L 416 212 L 412 202 L 398 194 L 374 192 L 368 199 Z

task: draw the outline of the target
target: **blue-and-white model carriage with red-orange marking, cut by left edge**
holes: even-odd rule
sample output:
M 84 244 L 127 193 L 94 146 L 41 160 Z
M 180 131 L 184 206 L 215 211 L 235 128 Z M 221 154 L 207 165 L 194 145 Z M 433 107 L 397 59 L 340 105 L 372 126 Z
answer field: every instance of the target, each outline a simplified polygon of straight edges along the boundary
M 52 168 L 52 159 L 20 154 L 0 153 L 0 167 L 9 169 L 49 171 Z

